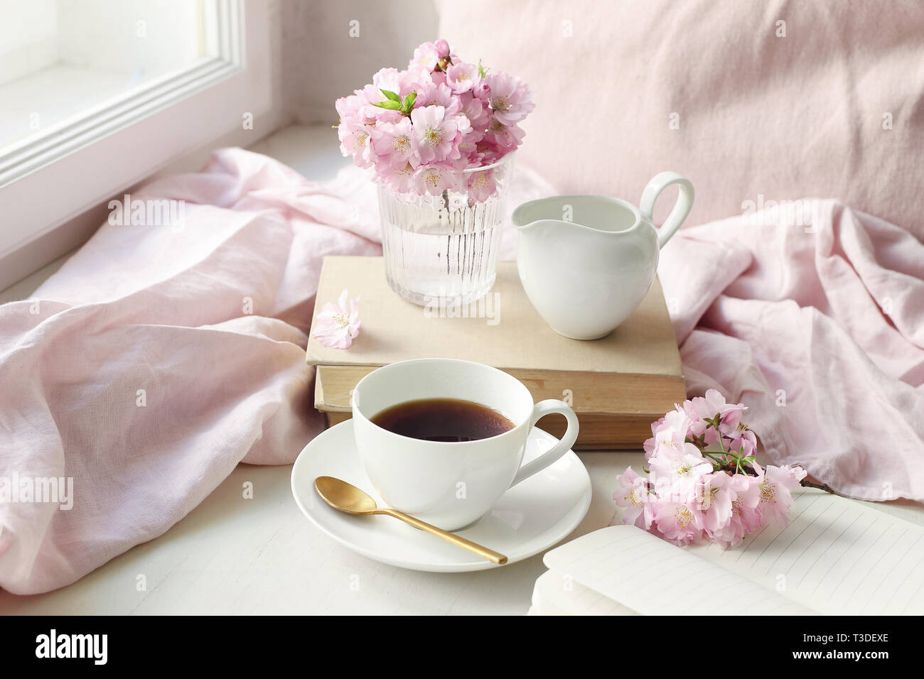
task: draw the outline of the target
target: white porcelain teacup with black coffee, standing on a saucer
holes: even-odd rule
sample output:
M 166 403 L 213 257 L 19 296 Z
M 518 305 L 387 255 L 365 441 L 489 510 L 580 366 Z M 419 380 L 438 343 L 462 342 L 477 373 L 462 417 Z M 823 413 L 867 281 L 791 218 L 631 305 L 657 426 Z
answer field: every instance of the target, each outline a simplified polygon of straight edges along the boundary
M 384 409 L 426 398 L 487 406 L 514 425 L 478 441 L 423 441 L 371 422 Z M 533 404 L 529 389 L 503 370 L 452 358 L 419 358 L 373 370 L 353 390 L 353 430 L 366 473 L 383 501 L 446 530 L 468 526 L 504 492 L 568 451 L 577 416 L 562 401 Z M 521 466 L 529 431 L 549 413 L 567 418 L 551 450 Z

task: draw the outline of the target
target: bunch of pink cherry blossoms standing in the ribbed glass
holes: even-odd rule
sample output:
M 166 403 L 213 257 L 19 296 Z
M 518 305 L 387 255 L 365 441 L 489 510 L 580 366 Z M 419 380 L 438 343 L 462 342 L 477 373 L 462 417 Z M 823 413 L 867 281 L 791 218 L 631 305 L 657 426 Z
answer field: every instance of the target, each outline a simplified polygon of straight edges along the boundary
M 383 68 L 336 101 L 340 150 L 397 193 L 483 201 L 534 105 L 520 79 L 463 61 L 444 40 L 424 42 L 405 70 Z

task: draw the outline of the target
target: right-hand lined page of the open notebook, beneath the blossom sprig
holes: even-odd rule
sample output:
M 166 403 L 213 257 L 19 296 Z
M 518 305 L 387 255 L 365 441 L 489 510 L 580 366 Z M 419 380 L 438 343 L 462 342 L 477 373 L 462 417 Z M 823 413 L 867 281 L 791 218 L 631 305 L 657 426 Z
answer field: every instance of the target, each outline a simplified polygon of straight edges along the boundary
M 924 528 L 808 489 L 790 516 L 734 549 L 687 551 L 817 612 L 924 614 Z

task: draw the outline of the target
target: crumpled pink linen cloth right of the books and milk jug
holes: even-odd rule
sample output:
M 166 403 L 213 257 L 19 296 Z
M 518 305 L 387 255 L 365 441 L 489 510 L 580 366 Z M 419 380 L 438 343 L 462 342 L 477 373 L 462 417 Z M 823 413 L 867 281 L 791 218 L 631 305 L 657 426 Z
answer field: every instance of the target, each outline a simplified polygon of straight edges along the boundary
M 924 500 L 924 245 L 836 200 L 682 229 L 659 275 L 687 393 L 749 406 L 776 464 Z

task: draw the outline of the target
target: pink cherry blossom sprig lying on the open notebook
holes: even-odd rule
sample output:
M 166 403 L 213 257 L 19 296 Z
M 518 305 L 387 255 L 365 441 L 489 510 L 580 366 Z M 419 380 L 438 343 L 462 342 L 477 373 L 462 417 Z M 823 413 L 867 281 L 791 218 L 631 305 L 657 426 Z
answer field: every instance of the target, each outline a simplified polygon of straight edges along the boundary
M 648 476 L 627 467 L 616 477 L 622 523 L 675 544 L 723 546 L 760 527 L 788 525 L 793 491 L 815 484 L 803 484 L 802 467 L 760 467 L 757 437 L 742 421 L 747 409 L 710 389 L 652 423 Z

